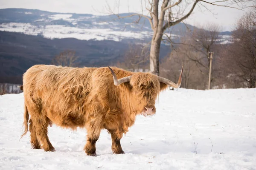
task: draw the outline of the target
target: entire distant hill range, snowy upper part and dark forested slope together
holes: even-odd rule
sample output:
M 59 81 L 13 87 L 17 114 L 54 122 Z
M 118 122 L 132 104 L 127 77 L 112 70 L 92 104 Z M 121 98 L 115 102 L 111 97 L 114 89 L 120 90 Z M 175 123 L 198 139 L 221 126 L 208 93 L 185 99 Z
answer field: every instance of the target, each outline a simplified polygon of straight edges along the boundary
M 120 14 L 125 16 L 127 14 Z M 35 64 L 50 64 L 64 50 L 74 50 L 79 66 L 106 66 L 122 62 L 128 43 L 150 42 L 148 20 L 138 17 L 117 20 L 115 15 L 55 13 L 35 9 L 0 9 L 0 82 L 20 84 L 22 74 Z M 172 40 L 179 41 L 186 27 L 172 27 Z M 218 42 L 230 42 L 230 32 L 222 32 Z M 160 58 L 170 52 L 161 45 Z

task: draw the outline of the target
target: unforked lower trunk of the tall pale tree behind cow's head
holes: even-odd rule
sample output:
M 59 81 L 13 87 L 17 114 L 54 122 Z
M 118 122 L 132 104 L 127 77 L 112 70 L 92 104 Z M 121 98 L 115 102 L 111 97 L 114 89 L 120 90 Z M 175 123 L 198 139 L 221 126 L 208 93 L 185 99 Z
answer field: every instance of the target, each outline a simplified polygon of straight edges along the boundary
M 160 54 L 161 38 L 152 40 L 150 47 L 150 72 L 159 76 L 159 54 Z

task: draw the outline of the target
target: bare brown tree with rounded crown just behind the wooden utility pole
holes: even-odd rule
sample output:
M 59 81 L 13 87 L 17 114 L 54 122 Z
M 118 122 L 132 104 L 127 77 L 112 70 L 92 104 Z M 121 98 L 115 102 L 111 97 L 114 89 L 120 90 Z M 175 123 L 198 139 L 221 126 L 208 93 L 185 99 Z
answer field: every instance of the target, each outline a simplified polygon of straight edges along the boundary
M 187 28 L 186 32 L 184 32 L 183 37 L 180 39 L 180 43 L 177 43 L 179 46 L 175 47 L 172 45 L 173 50 L 178 52 L 178 55 L 184 56 L 182 51 L 179 49 L 183 49 L 184 53 L 186 53 L 186 59 L 190 59 L 195 65 L 198 67 L 201 74 L 205 77 L 209 77 L 210 71 L 212 72 L 212 76 L 208 79 L 204 79 L 207 81 L 208 89 L 212 88 L 213 82 L 216 76 L 216 67 L 213 65 L 210 67 L 210 63 L 215 64 L 215 59 L 210 57 L 210 53 L 217 52 L 215 54 L 218 55 L 218 45 L 217 40 L 219 39 L 220 26 L 217 24 L 207 24 L 201 28 L 196 28 L 193 31 Z M 166 41 L 175 44 L 172 40 L 167 37 Z M 187 46 L 187 47 L 185 47 Z M 189 55 L 188 55 L 189 54 Z M 196 55 L 192 55 L 196 54 Z M 201 83 L 201 84 L 206 84 Z M 202 88 L 204 89 L 204 88 Z

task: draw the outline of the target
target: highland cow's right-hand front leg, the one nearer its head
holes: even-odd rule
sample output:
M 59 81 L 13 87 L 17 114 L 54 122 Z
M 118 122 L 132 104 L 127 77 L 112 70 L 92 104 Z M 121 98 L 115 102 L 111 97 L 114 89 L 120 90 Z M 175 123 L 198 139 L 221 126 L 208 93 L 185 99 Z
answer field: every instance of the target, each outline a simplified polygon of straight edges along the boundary
M 111 138 L 112 138 L 112 147 L 111 148 L 112 148 L 113 153 L 115 153 L 115 154 L 125 153 L 122 150 L 122 147 L 120 144 L 120 140 L 122 139 L 123 133 L 122 132 L 113 132 L 113 131 L 110 131 L 110 133 L 111 133 Z

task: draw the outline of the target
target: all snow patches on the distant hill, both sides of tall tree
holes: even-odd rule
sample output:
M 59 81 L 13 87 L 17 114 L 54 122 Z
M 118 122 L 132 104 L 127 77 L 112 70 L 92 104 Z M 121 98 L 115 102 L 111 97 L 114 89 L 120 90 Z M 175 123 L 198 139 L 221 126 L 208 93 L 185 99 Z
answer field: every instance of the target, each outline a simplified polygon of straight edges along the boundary
M 32 14 L 32 12 L 25 12 Z M 28 35 L 41 35 L 45 38 L 76 38 L 79 40 L 114 40 L 123 39 L 150 40 L 153 36 L 151 28 L 131 23 L 120 23 L 117 20 L 107 19 L 104 16 L 73 16 L 73 14 L 41 14 L 41 17 L 31 23 L 1 23 L 0 31 L 20 32 Z M 63 20 L 65 22 L 53 21 Z M 62 25 L 61 25 L 62 24 Z M 131 29 L 133 28 L 133 29 Z M 166 33 L 174 39 L 180 35 Z M 227 44 L 232 40 L 229 35 L 221 35 L 218 43 Z

